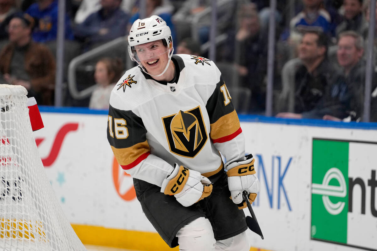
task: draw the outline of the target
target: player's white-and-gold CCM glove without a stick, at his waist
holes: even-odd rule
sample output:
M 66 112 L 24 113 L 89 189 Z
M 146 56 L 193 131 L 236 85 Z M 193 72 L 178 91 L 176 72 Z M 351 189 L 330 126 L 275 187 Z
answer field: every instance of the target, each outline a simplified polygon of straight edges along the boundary
M 201 173 L 175 164 L 174 170 L 162 181 L 161 193 L 174 195 L 179 203 L 189 207 L 209 196 L 211 181 Z

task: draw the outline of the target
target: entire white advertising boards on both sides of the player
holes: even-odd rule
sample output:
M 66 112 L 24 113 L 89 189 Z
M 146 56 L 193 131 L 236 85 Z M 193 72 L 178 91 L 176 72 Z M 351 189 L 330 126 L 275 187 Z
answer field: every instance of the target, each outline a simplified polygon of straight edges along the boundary
M 107 115 L 44 112 L 42 119 L 35 140 L 69 221 L 155 232 L 132 178 L 114 161 Z M 242 120 L 241 127 L 261 181 L 253 208 L 265 239 L 248 230 L 252 246 L 377 250 L 376 130 Z

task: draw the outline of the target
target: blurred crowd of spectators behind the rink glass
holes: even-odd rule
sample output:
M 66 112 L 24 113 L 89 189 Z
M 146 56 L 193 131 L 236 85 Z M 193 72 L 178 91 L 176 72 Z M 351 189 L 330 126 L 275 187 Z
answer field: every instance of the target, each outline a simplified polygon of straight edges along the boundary
M 377 122 L 377 30 L 368 37 L 370 0 L 277 0 L 274 13 L 268 0 L 218 0 L 215 22 L 212 0 L 60 1 L 64 5 L 0 0 L 1 82 L 23 85 L 40 105 L 107 109 L 113 86 L 135 66 L 125 37 L 131 24 L 159 15 L 172 30 L 174 54 L 216 62 L 238 113 L 265 114 L 268 67 L 273 67 L 273 116 L 361 121 L 366 59 L 372 55 L 370 121 Z M 57 42 L 59 6 L 65 6 L 63 46 Z

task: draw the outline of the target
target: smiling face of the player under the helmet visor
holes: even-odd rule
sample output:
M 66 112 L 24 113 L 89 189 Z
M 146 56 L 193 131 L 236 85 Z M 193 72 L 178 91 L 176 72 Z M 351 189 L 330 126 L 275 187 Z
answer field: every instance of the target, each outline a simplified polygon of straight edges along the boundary
M 135 46 L 138 61 L 150 75 L 159 75 L 164 71 L 169 61 L 169 48 L 162 40 L 157 40 Z

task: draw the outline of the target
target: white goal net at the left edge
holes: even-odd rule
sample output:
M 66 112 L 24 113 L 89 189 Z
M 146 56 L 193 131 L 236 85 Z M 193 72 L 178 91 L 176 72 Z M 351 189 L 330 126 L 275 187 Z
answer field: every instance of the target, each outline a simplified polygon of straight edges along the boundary
M 0 251 L 86 250 L 44 172 L 26 94 L 0 85 Z

